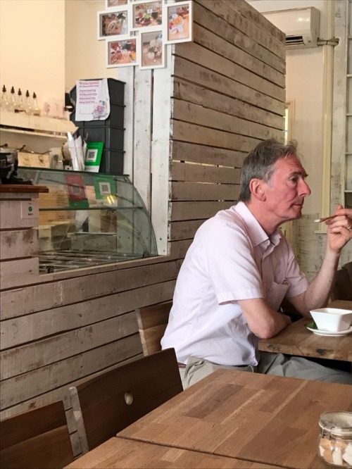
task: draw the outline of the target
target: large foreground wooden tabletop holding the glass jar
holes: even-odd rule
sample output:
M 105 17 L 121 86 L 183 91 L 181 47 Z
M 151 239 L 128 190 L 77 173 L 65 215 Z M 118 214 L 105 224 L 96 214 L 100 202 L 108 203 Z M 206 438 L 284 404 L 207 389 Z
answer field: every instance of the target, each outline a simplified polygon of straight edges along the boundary
M 256 463 L 326 468 L 320 415 L 352 411 L 347 384 L 217 370 L 118 433 L 119 437 Z

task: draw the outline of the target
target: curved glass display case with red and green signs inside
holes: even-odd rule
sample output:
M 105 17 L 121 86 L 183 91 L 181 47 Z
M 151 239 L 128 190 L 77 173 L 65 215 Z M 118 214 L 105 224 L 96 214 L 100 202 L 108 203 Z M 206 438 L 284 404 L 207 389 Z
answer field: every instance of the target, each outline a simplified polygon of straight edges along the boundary
M 18 168 L 39 194 L 39 271 L 52 273 L 157 255 L 151 220 L 125 175 Z

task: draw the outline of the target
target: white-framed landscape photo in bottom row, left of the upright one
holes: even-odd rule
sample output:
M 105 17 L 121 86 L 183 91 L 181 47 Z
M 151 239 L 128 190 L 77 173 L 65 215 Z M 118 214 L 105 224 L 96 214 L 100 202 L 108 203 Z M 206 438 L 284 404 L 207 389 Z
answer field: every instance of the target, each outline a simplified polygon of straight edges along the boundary
M 106 68 L 138 65 L 137 37 L 109 37 L 106 39 Z

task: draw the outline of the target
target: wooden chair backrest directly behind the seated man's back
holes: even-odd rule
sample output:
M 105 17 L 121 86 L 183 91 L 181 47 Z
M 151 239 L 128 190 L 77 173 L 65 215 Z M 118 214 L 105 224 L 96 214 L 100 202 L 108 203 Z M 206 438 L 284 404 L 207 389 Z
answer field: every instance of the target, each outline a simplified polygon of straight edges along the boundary
M 168 325 L 172 301 L 136 309 L 139 337 L 144 355 L 161 350 L 161 338 Z

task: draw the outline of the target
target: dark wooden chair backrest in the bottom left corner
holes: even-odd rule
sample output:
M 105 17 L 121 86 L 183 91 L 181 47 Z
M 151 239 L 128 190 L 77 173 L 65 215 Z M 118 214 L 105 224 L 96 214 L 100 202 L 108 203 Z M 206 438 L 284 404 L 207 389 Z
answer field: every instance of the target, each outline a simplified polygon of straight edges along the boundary
M 0 423 L 3 469 L 63 468 L 73 461 L 73 449 L 63 402 L 5 418 Z

